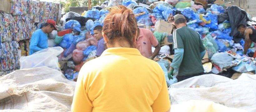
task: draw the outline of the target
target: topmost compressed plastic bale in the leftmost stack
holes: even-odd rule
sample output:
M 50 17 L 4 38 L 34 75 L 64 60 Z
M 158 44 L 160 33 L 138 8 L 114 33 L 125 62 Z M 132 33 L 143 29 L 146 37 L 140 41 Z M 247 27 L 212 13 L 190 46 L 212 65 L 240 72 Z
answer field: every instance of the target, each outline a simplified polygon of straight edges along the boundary
M 12 0 L 12 16 L 27 14 L 27 0 Z

